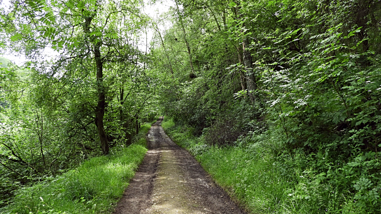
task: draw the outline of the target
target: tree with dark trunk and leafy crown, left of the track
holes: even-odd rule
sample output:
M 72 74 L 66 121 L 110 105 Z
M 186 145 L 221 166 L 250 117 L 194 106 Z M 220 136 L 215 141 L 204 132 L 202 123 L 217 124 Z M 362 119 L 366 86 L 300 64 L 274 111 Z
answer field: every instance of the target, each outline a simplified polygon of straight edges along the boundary
M 117 64 L 124 61 L 133 61 L 133 55 L 139 54 L 129 43 L 128 32 L 137 32 L 145 21 L 139 15 L 139 3 L 135 2 L 33 2 L 20 1 L 14 3 L 12 13 L 21 16 L 18 21 L 13 20 L 15 26 L 29 21 L 27 27 L 20 31 L 10 32 L 14 42 L 22 39 L 28 41 L 28 49 L 38 50 L 51 45 L 60 52 L 56 66 L 50 70 L 52 76 L 61 76 L 60 80 L 72 78 L 78 74 L 68 70 L 61 70 L 60 66 L 67 64 L 71 70 L 81 69 L 76 65 L 78 59 L 83 61 L 86 69 L 91 69 L 93 62 L 96 73 L 98 102 L 94 123 L 98 128 L 102 152 L 109 151 L 108 140 L 104 128 L 104 115 L 106 109 L 106 91 L 104 83 L 105 64 Z M 55 13 L 55 14 L 53 14 Z M 36 43 L 37 42 L 37 43 Z M 111 66 L 108 66 L 111 67 Z M 86 71 L 88 73 L 88 71 Z

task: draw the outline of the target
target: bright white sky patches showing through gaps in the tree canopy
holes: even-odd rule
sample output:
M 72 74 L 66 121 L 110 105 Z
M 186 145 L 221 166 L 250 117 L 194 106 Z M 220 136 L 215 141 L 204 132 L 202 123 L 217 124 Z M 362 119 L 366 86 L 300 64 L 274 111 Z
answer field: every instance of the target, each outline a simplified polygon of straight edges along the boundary
M 157 1 L 154 5 L 148 4 L 149 2 L 150 0 L 144 0 L 145 6 L 143 8 L 143 12 L 154 19 L 160 17 L 160 14 L 167 12 L 170 6 L 174 5 L 174 2 L 172 2 L 171 0 Z M 10 5 L 9 0 L 0 0 L 1 8 L 8 8 L 9 5 Z M 149 42 L 152 40 L 152 36 L 153 36 L 152 30 L 148 29 L 147 31 L 148 49 L 149 49 Z M 141 51 L 145 51 L 145 48 L 146 48 L 145 43 L 146 43 L 145 34 L 142 34 L 142 40 L 138 46 Z M 45 48 L 45 53 L 50 56 L 58 54 L 51 48 Z M 27 61 L 24 55 L 21 55 L 18 53 L 11 53 L 9 50 L 7 50 L 5 53 L 0 52 L 0 56 L 8 58 L 9 60 L 11 60 L 13 63 L 17 65 L 23 65 Z

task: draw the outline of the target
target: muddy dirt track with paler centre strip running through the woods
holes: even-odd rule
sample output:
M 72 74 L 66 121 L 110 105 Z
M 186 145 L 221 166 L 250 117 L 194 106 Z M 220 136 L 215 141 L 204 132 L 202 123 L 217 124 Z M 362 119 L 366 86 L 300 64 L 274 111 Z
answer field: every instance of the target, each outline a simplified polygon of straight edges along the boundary
M 114 214 L 244 213 L 200 164 L 160 126 L 148 132 L 148 152 Z

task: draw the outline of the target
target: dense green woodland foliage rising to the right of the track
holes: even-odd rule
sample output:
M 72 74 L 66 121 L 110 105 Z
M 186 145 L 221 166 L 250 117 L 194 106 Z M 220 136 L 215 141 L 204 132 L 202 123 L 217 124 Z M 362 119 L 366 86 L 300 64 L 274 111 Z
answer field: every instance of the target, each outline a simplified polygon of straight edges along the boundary
M 181 13 L 173 9 L 162 47 L 186 52 L 176 33 L 178 16 L 187 20 L 196 78 L 178 54 L 172 67 L 186 70 L 174 70 L 165 112 L 210 145 L 253 144 L 263 134 L 275 139 L 275 164 L 284 172 L 299 167 L 309 182 L 350 193 L 347 200 L 364 213 L 379 210 L 379 1 L 177 4 Z M 162 47 L 153 53 L 173 54 Z

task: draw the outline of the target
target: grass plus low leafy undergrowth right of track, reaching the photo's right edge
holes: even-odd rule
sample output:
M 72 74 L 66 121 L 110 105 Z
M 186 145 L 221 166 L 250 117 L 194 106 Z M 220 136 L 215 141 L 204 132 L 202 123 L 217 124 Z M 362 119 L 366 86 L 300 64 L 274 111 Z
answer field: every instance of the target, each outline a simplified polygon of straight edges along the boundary
M 194 137 L 192 129 L 176 126 L 171 119 L 165 119 L 163 128 L 251 213 L 381 212 L 378 195 L 367 189 L 373 187 L 375 192 L 377 183 L 372 182 L 376 180 L 361 179 L 359 172 L 359 168 L 371 171 L 365 162 L 378 161 L 374 154 L 335 165 L 337 161 L 319 152 L 282 153 L 271 130 L 220 147 L 206 144 L 203 136 Z

